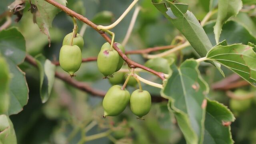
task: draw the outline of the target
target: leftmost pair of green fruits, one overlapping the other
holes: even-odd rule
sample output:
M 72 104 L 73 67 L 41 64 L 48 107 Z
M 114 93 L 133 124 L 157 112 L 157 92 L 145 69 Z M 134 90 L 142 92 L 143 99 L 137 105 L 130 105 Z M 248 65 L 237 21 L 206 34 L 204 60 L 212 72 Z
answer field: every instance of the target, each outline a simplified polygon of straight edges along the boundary
M 71 32 L 64 37 L 60 48 L 60 67 L 68 72 L 71 77 L 78 71 L 82 63 L 82 49 L 84 39 L 80 34 Z

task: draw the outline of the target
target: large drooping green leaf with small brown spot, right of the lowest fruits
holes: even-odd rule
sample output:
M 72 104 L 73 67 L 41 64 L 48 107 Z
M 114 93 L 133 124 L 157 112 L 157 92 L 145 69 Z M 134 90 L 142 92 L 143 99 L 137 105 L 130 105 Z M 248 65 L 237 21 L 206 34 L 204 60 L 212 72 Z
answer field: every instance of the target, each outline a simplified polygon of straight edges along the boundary
M 172 70 L 161 95 L 171 101 L 171 109 L 186 141 L 202 143 L 205 116 L 202 105 L 209 90 L 208 85 L 201 78 L 195 60 L 186 60 L 180 67 L 172 65 Z

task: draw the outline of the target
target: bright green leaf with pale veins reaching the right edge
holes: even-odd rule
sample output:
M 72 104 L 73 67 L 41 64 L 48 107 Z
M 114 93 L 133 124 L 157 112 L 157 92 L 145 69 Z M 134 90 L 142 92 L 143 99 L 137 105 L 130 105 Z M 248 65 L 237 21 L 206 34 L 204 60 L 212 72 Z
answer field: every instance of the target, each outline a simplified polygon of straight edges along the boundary
M 243 44 L 213 47 L 206 58 L 223 64 L 242 78 L 256 85 L 256 53 L 253 48 Z

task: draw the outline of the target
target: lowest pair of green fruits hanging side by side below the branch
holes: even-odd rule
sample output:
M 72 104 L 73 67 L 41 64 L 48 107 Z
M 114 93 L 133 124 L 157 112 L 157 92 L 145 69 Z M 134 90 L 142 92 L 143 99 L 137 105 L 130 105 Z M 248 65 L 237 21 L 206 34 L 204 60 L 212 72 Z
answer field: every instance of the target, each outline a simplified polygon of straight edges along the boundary
M 150 111 L 151 96 L 148 91 L 138 89 L 132 92 L 130 96 L 128 90 L 122 89 L 122 86 L 114 85 L 108 90 L 103 99 L 104 117 L 121 114 L 129 101 L 132 112 L 139 118 Z

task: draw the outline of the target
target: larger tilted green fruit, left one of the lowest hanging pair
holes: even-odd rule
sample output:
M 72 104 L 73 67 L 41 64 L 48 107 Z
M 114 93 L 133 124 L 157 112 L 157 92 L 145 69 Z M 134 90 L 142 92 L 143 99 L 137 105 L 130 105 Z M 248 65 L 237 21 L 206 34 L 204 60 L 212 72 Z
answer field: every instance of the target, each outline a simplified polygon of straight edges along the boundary
M 121 90 L 122 86 L 114 85 L 106 93 L 102 105 L 104 108 L 104 117 L 117 116 L 126 108 L 130 93 L 128 90 Z

